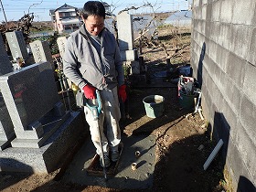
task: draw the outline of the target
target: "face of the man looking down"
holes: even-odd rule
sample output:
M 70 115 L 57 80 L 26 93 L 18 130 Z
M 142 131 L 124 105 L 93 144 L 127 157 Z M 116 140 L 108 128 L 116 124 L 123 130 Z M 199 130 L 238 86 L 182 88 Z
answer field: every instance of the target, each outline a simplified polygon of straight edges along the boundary
M 102 16 L 88 16 L 87 19 L 83 18 L 83 22 L 92 36 L 98 36 L 104 27 L 104 18 Z

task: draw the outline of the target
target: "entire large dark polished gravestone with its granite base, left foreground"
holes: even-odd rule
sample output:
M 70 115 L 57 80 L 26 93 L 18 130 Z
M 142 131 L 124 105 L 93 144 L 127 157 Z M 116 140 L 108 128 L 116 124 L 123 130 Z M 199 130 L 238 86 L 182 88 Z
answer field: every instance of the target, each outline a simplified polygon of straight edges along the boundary
M 0 170 L 47 173 L 85 131 L 80 112 L 64 110 L 49 62 L 0 76 L 16 139 L 0 153 Z

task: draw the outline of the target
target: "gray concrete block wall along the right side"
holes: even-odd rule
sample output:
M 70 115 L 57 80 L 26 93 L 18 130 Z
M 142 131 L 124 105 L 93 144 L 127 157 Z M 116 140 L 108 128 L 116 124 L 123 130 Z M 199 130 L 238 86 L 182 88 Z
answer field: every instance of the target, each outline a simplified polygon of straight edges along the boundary
M 194 0 L 191 65 L 233 187 L 256 190 L 256 1 Z

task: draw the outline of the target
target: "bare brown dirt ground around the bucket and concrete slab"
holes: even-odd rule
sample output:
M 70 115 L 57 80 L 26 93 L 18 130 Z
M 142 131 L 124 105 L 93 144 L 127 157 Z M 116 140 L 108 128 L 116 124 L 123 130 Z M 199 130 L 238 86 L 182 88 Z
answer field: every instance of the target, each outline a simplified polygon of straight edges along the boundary
M 159 39 L 165 44 L 173 71 L 179 65 L 189 64 L 190 31 L 186 28 L 160 27 Z M 166 51 L 160 47 L 144 47 L 143 56 L 148 67 L 147 77 L 165 68 Z M 160 66 L 160 67 L 159 67 Z M 169 82 L 173 76 L 162 78 Z M 159 81 L 159 79 L 158 79 Z M 161 83 L 160 83 L 161 84 Z M 149 84 L 150 85 L 150 84 Z M 145 115 L 143 98 L 148 95 L 164 96 L 165 111 L 155 119 Z M 203 165 L 216 145 L 208 131 L 207 120 L 198 113 L 180 108 L 176 84 L 170 87 L 137 88 L 129 93 L 130 119 L 121 122 L 123 136 L 153 134 L 156 138 L 156 158 L 153 188 L 140 191 L 232 191 L 228 175 L 218 155 L 204 171 Z M 45 175 L 0 172 L 2 191 L 121 191 L 114 188 L 78 186 L 56 179 L 59 170 Z M 132 191 L 125 189 L 122 191 Z M 139 191 L 139 190 L 133 190 Z

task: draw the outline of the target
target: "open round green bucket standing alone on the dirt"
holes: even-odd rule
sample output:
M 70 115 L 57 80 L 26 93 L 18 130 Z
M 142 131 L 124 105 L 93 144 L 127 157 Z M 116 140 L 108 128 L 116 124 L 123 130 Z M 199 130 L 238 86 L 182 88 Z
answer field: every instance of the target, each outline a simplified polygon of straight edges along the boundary
M 164 112 L 165 98 L 161 95 L 149 95 L 144 98 L 144 109 L 146 116 L 150 118 L 156 118 Z

